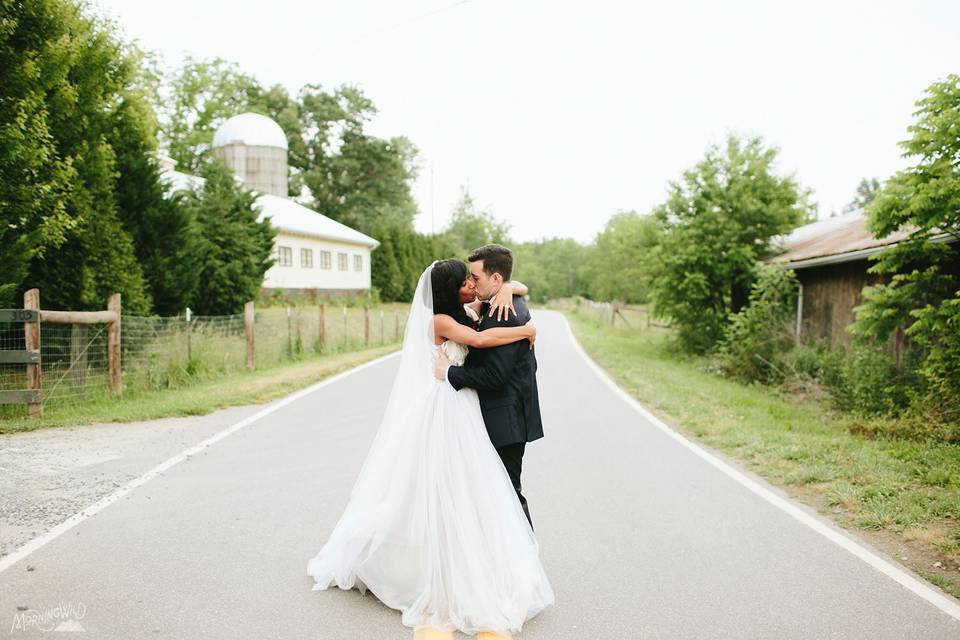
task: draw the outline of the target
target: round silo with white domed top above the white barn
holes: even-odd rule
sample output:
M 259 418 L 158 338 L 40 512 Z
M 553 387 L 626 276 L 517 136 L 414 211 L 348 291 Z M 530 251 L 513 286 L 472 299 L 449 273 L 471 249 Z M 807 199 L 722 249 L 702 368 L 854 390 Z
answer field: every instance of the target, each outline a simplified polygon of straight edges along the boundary
M 213 153 L 248 188 L 287 197 L 287 136 L 267 116 L 241 113 L 224 122 L 213 135 Z

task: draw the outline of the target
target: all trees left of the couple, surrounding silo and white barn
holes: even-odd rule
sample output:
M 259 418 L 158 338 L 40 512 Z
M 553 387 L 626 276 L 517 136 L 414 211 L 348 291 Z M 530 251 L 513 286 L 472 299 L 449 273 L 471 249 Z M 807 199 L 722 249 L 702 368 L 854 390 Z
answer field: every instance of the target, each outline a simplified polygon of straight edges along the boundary
M 264 86 L 223 60 L 164 69 L 70 0 L 5 3 L 0 28 L 0 306 L 39 287 L 48 309 L 237 313 L 273 264 L 276 232 L 211 153 L 227 118 L 276 120 L 289 195 L 377 238 L 375 292 L 408 299 L 448 236 L 414 230 L 417 150 L 369 134 L 359 89 Z M 176 192 L 159 156 L 202 182 Z

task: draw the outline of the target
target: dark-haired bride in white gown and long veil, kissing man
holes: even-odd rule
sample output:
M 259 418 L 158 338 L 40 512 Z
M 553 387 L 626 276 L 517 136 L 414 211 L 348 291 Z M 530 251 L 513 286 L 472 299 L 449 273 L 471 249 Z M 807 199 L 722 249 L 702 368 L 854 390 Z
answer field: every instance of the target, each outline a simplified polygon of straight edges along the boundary
M 509 293 L 499 306 L 510 304 Z M 434 262 L 421 274 L 383 420 L 346 510 L 307 564 L 314 591 L 369 589 L 402 612 L 416 640 L 457 630 L 510 638 L 554 602 L 476 391 L 433 376 L 436 345 L 462 363 L 468 346 L 536 338 L 529 323 L 474 330 L 468 313 L 475 317 L 475 309 L 463 303 L 475 297 L 460 260 Z

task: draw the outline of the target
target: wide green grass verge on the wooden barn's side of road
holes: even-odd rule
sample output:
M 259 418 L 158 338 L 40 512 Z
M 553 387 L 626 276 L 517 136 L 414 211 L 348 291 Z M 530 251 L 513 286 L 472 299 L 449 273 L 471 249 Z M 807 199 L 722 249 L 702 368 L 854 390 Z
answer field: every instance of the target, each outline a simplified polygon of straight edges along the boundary
M 823 400 L 784 397 L 709 371 L 679 352 L 669 329 L 631 318 L 611 327 L 567 310 L 574 333 L 617 383 L 681 432 L 774 484 L 794 489 L 842 526 L 894 534 L 949 567 L 931 580 L 960 597 L 960 447 L 868 439 Z M 869 537 L 869 536 L 868 536 Z

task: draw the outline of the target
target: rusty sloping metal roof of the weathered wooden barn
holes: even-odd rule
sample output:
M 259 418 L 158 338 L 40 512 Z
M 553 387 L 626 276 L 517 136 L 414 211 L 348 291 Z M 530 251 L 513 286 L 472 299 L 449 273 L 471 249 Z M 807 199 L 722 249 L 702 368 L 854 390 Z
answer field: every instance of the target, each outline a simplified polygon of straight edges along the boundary
M 910 235 L 910 229 L 901 229 L 885 238 L 877 238 L 867 229 L 867 218 L 857 210 L 832 218 L 817 220 L 798 227 L 781 237 L 784 252 L 770 262 L 788 269 L 803 269 L 824 264 L 863 260 L 868 255 L 883 251 Z M 945 235 L 933 240 L 951 241 Z

